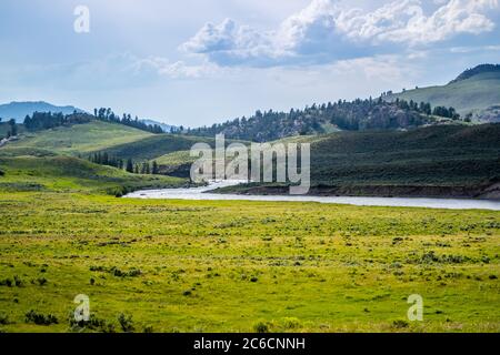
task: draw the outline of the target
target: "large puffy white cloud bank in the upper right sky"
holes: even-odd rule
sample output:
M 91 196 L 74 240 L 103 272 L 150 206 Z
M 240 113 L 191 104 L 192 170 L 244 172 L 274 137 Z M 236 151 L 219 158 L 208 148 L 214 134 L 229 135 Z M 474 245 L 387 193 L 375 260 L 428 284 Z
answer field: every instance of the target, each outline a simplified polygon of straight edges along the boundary
M 181 49 L 221 65 L 318 63 L 372 54 L 391 43 L 413 48 L 494 28 L 488 12 L 498 9 L 498 0 L 438 3 L 426 14 L 420 0 L 393 1 L 370 12 L 333 0 L 312 0 L 272 31 L 226 19 L 220 24 L 207 23 Z

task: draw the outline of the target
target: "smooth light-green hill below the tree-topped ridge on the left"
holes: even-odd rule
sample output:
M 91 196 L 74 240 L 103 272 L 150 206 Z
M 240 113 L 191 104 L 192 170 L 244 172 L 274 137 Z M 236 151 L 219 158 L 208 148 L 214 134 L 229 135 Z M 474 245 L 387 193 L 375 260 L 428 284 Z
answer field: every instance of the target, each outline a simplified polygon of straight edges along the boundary
M 69 128 L 26 133 L 26 136 L 19 142 L 9 145 L 41 148 L 60 153 L 77 154 L 130 143 L 151 135 L 151 133 L 122 124 L 92 121 Z

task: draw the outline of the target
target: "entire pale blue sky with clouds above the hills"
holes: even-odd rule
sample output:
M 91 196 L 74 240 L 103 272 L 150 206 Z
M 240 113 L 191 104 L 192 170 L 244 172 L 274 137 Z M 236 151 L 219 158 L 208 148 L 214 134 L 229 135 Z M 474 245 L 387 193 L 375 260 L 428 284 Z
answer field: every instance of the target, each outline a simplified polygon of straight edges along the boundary
M 444 84 L 500 63 L 499 26 L 499 0 L 2 0 L 0 103 L 211 125 Z

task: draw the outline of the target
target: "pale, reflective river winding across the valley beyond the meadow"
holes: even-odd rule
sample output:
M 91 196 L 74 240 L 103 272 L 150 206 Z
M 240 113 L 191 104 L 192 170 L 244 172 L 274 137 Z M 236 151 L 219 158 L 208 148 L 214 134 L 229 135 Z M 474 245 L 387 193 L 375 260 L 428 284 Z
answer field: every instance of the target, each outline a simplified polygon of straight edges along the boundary
M 500 201 L 472 199 L 427 199 L 427 197 L 351 197 L 351 196 L 310 196 L 310 195 L 239 195 L 219 194 L 210 191 L 231 186 L 240 181 L 212 182 L 208 186 L 189 189 L 142 190 L 127 194 L 127 199 L 159 200 L 209 200 L 209 201 L 282 201 L 282 202 L 319 202 L 351 204 L 359 206 L 396 206 L 429 207 L 448 210 L 493 210 L 500 211 Z

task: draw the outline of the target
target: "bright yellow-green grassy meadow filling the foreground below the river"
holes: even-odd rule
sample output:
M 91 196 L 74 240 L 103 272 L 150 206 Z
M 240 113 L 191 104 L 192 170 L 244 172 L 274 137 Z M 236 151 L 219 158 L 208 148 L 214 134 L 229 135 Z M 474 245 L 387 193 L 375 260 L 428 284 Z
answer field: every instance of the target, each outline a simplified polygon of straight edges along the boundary
M 4 332 L 80 331 L 79 294 L 91 332 L 500 332 L 494 211 L 61 192 L 0 211 Z

